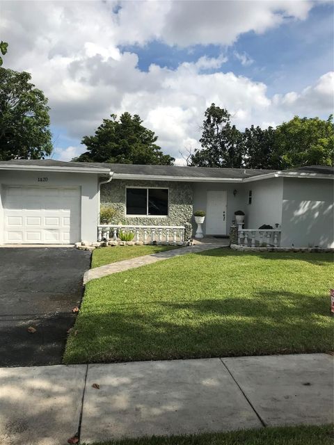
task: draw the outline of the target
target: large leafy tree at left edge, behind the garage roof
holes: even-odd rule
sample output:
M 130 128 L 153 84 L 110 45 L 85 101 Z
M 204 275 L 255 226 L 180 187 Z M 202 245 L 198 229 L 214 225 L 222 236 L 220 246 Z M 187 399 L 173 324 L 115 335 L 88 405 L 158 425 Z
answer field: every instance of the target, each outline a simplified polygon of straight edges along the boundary
M 0 67 L 0 160 L 51 154 L 49 106 L 28 72 Z

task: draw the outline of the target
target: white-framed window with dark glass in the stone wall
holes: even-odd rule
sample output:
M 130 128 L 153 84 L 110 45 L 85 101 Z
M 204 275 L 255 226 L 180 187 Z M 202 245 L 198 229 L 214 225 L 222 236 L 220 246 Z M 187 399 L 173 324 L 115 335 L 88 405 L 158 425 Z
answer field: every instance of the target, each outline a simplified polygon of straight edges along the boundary
M 167 216 L 168 188 L 127 188 L 127 215 Z

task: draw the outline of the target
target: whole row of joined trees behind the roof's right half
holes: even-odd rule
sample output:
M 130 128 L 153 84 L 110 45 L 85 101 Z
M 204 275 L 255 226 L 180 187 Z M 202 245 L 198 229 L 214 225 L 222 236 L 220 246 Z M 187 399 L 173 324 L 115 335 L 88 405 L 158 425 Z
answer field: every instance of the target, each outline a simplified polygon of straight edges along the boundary
M 273 170 L 333 165 L 333 116 L 295 116 L 276 129 L 251 125 L 239 131 L 230 123 L 230 113 L 212 104 L 205 111 L 200 144 L 202 149 L 191 154 L 189 165 Z

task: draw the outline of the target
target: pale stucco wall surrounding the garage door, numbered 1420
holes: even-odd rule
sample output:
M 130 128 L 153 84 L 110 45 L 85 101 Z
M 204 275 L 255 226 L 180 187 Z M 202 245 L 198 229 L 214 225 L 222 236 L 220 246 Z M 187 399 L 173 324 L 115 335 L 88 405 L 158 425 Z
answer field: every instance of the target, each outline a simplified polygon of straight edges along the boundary
M 38 177 L 47 182 L 38 182 Z M 99 218 L 98 176 L 84 173 L 24 172 L 0 170 L 0 244 L 3 243 L 3 194 L 6 186 L 76 186 L 81 188 L 81 239 L 96 241 Z

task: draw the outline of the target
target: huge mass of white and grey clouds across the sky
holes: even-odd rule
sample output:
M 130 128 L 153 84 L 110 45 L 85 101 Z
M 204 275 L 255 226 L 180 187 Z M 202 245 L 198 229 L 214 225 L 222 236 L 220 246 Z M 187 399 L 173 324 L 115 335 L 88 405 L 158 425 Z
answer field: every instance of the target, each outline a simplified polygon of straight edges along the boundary
M 301 92 L 271 98 L 264 83 L 212 72 L 223 69 L 223 49 L 218 58 L 202 56 L 176 70 L 151 65 L 148 72 L 138 69 L 137 54 L 120 50 L 120 44 L 154 39 L 180 47 L 231 44 L 241 33 L 305 19 L 310 1 L 126 1 L 116 14 L 117 4 L 1 3 L 2 33 L 10 42 L 5 66 L 32 73 L 33 83 L 49 97 L 52 124 L 70 138 L 80 140 L 111 113 L 129 111 L 157 133 L 165 152 L 180 158 L 184 146 L 198 146 L 204 111 L 212 102 L 228 108 L 238 127 L 279 123 L 300 110 L 317 115 L 331 109 L 333 74 Z M 239 57 L 250 63 L 246 53 Z M 55 149 L 63 160 L 83 151 L 75 143 Z

